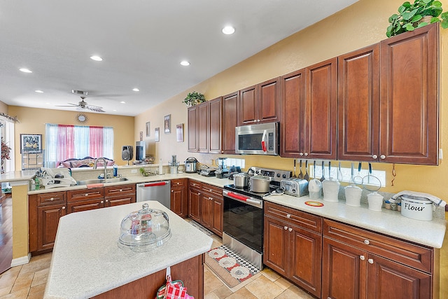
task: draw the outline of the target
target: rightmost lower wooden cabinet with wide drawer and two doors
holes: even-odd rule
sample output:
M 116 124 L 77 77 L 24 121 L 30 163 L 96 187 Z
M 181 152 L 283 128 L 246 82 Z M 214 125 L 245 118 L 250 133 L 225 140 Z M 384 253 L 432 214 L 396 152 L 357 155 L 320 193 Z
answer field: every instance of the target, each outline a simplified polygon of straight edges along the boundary
M 323 235 L 321 298 L 433 298 L 431 249 L 326 219 Z

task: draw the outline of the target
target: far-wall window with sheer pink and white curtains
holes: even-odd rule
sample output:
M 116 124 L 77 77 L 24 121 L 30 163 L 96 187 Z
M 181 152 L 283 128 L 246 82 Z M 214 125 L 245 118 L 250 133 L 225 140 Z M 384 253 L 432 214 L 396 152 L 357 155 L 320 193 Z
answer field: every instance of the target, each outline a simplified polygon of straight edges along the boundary
M 113 160 L 113 127 L 45 125 L 45 167 L 87 156 Z

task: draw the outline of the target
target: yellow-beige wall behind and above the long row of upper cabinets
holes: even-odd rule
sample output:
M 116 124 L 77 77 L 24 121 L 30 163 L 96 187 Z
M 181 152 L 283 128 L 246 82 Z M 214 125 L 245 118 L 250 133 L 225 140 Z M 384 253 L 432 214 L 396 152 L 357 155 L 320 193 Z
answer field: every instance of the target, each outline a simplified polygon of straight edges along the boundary
M 358 1 L 344 11 L 293 34 L 221 74 L 217 74 L 190 90 L 168 99 L 159 106 L 141 113 L 135 118 L 135 138 L 138 138 L 138 131 L 144 129 L 146 121 L 151 121 L 151 133 L 153 133 L 153 127 L 162 128 L 163 116 L 169 113 L 172 113 L 174 123 L 187 123 L 187 109 L 181 101 L 191 90 L 204 93 L 207 99 L 214 99 L 386 39 L 388 17 L 398 10 L 400 4 L 402 1 L 398 0 Z M 444 4 L 443 8 L 444 11 L 448 11 L 447 4 Z M 448 155 L 448 134 L 444 134 L 448 130 L 448 122 L 441 121 L 448 119 L 448 111 L 444 104 L 448 99 L 448 29 L 440 31 L 440 43 L 440 148 L 445 155 Z M 169 159 L 172 154 L 178 155 L 181 160 L 193 155 L 200 162 L 207 164 L 210 164 L 211 159 L 218 157 L 218 155 L 186 153 L 186 142 L 177 143 L 174 134 L 161 133 L 159 143 L 155 143 L 153 137 L 149 137 L 147 140 L 151 144 L 152 153 L 155 153 L 157 158 L 162 157 L 164 161 Z M 241 158 L 246 159 L 246 166 L 293 169 L 292 159 L 254 155 Z M 349 162 L 343 162 L 343 167 L 349 167 Z M 439 166 L 395 165 L 397 176 L 394 186 L 391 186 L 392 165 L 373 163 L 373 167 L 386 172 L 386 186 L 381 188 L 381 191 L 397 193 L 400 190 L 417 190 L 448 200 L 446 186 L 448 164 L 444 160 L 440 160 Z M 448 293 L 447 245 L 448 240 L 445 238 L 440 263 L 442 268 L 440 294 Z

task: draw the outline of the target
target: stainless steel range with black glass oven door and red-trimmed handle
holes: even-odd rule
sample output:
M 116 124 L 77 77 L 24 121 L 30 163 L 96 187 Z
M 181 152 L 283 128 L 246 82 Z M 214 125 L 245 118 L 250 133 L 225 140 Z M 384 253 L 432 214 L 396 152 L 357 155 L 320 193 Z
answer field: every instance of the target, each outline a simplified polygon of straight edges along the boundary
M 269 176 L 269 192 L 280 187 L 282 179 L 289 179 L 291 172 L 251 167 L 253 174 Z M 263 200 L 265 193 L 255 193 L 235 185 L 224 186 L 223 244 L 262 269 L 263 253 Z

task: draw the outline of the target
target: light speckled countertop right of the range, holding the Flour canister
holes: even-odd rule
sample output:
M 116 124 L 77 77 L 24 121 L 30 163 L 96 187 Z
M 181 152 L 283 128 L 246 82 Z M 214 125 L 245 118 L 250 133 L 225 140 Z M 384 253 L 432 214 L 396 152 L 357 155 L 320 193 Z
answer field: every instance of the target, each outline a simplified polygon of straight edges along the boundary
M 323 203 L 323 207 L 313 207 L 305 204 L 309 196 L 271 195 L 263 198 L 286 207 L 434 248 L 442 248 L 447 229 L 447 221 L 444 219 L 433 218 L 432 221 L 419 221 L 402 216 L 399 211 L 390 209 L 371 211 L 366 204 L 351 207 L 346 205 L 344 200 L 326 202 L 321 198 L 314 201 Z

